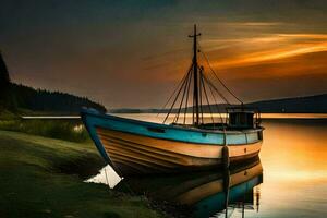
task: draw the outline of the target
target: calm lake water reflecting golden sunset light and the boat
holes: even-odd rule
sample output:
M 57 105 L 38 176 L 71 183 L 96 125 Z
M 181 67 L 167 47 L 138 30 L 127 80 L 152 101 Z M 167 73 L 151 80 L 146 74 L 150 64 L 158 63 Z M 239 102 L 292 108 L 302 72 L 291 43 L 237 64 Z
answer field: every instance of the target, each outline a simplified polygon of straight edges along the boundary
M 124 117 L 162 120 L 156 114 Z M 270 118 L 263 120 L 266 130 L 259 160 L 227 172 L 231 186 L 227 217 L 327 217 L 327 119 L 312 114 Z M 106 172 L 107 178 L 102 173 L 92 181 L 111 186 L 120 181 L 109 167 Z M 168 205 L 185 203 L 185 217 L 226 217 L 226 172 L 217 169 L 174 178 L 123 179 L 114 189 L 146 193 Z

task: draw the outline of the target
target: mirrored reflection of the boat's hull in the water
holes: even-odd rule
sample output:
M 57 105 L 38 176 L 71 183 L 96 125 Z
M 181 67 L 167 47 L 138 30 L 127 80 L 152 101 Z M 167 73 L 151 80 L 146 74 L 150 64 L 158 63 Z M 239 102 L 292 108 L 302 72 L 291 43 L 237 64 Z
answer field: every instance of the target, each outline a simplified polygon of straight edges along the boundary
M 210 172 L 129 178 L 117 189 L 131 189 L 150 199 L 167 202 L 192 217 L 230 217 L 258 209 L 263 167 L 257 158 Z M 181 209 L 182 208 L 182 209 Z M 169 209 L 168 209 L 169 210 Z

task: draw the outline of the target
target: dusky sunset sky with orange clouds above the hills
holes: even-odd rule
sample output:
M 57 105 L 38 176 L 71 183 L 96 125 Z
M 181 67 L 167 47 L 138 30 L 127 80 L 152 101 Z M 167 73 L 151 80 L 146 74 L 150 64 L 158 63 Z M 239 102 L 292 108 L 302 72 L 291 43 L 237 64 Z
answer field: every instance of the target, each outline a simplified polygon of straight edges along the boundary
M 160 108 L 191 64 L 194 24 L 243 101 L 327 93 L 325 0 L 0 1 L 12 81 L 108 109 Z

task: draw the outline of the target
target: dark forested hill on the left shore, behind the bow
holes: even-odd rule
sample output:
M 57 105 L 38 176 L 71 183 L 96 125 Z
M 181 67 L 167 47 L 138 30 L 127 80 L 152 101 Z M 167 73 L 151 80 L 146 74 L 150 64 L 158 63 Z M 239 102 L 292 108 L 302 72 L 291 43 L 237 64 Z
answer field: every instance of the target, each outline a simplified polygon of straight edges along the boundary
M 106 108 L 102 105 L 94 102 L 86 97 L 35 89 L 11 83 L 8 68 L 0 53 L 0 110 L 77 114 L 82 107 L 92 107 L 106 112 Z

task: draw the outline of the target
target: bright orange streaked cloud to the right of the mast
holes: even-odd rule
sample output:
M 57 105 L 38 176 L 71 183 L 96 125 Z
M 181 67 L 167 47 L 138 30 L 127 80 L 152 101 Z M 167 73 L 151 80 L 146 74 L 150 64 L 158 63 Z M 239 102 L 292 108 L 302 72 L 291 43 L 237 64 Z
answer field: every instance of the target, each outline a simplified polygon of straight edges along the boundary
M 327 34 L 276 34 L 267 37 L 226 40 L 225 43 L 230 50 L 234 49 L 234 52 L 222 60 L 211 62 L 211 66 L 216 69 L 255 65 L 327 51 Z M 215 57 L 215 52 L 220 52 L 220 49 L 213 49 L 210 56 Z

